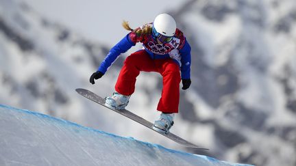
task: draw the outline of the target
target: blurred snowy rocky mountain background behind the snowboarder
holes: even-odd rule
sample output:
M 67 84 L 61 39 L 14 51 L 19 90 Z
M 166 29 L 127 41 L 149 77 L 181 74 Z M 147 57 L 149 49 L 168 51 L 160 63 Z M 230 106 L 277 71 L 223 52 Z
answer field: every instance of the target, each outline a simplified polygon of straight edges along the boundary
M 295 165 L 295 11 L 294 0 L 187 1 L 169 11 L 193 49 L 193 84 L 181 93 L 172 132 L 225 161 Z M 127 54 L 88 83 L 109 49 L 29 4 L 0 0 L 0 103 L 182 149 L 75 93 L 112 93 Z M 160 77 L 141 73 L 127 109 L 152 122 L 160 93 Z

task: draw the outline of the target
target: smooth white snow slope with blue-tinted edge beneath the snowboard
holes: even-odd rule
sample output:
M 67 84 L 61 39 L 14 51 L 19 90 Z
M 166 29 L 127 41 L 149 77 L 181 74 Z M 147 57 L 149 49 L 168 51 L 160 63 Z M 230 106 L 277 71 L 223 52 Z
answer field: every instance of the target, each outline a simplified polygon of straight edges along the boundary
M 0 126 L 0 165 L 238 166 L 5 105 Z

